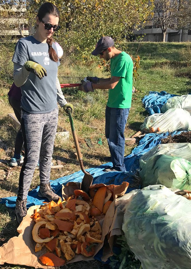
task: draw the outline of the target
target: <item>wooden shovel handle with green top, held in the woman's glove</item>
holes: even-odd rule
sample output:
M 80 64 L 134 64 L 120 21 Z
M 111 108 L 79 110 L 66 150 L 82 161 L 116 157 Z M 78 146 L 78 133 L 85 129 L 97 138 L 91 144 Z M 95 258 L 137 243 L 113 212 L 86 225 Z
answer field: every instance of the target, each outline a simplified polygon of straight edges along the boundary
M 89 175 L 89 173 L 87 171 L 85 171 L 84 166 L 83 166 L 82 154 L 81 154 L 77 134 L 76 134 L 75 127 L 74 127 L 74 122 L 73 122 L 73 119 L 72 119 L 71 109 L 67 108 L 67 111 L 68 111 L 68 115 L 69 115 L 69 119 L 70 119 L 70 125 L 71 125 L 71 129 L 72 129 L 72 136 L 73 136 L 73 139 L 74 139 L 74 144 L 75 144 L 75 147 L 76 147 L 76 152 L 77 152 L 80 168 L 81 168 L 81 170 L 82 170 L 82 172 L 84 174 Z

